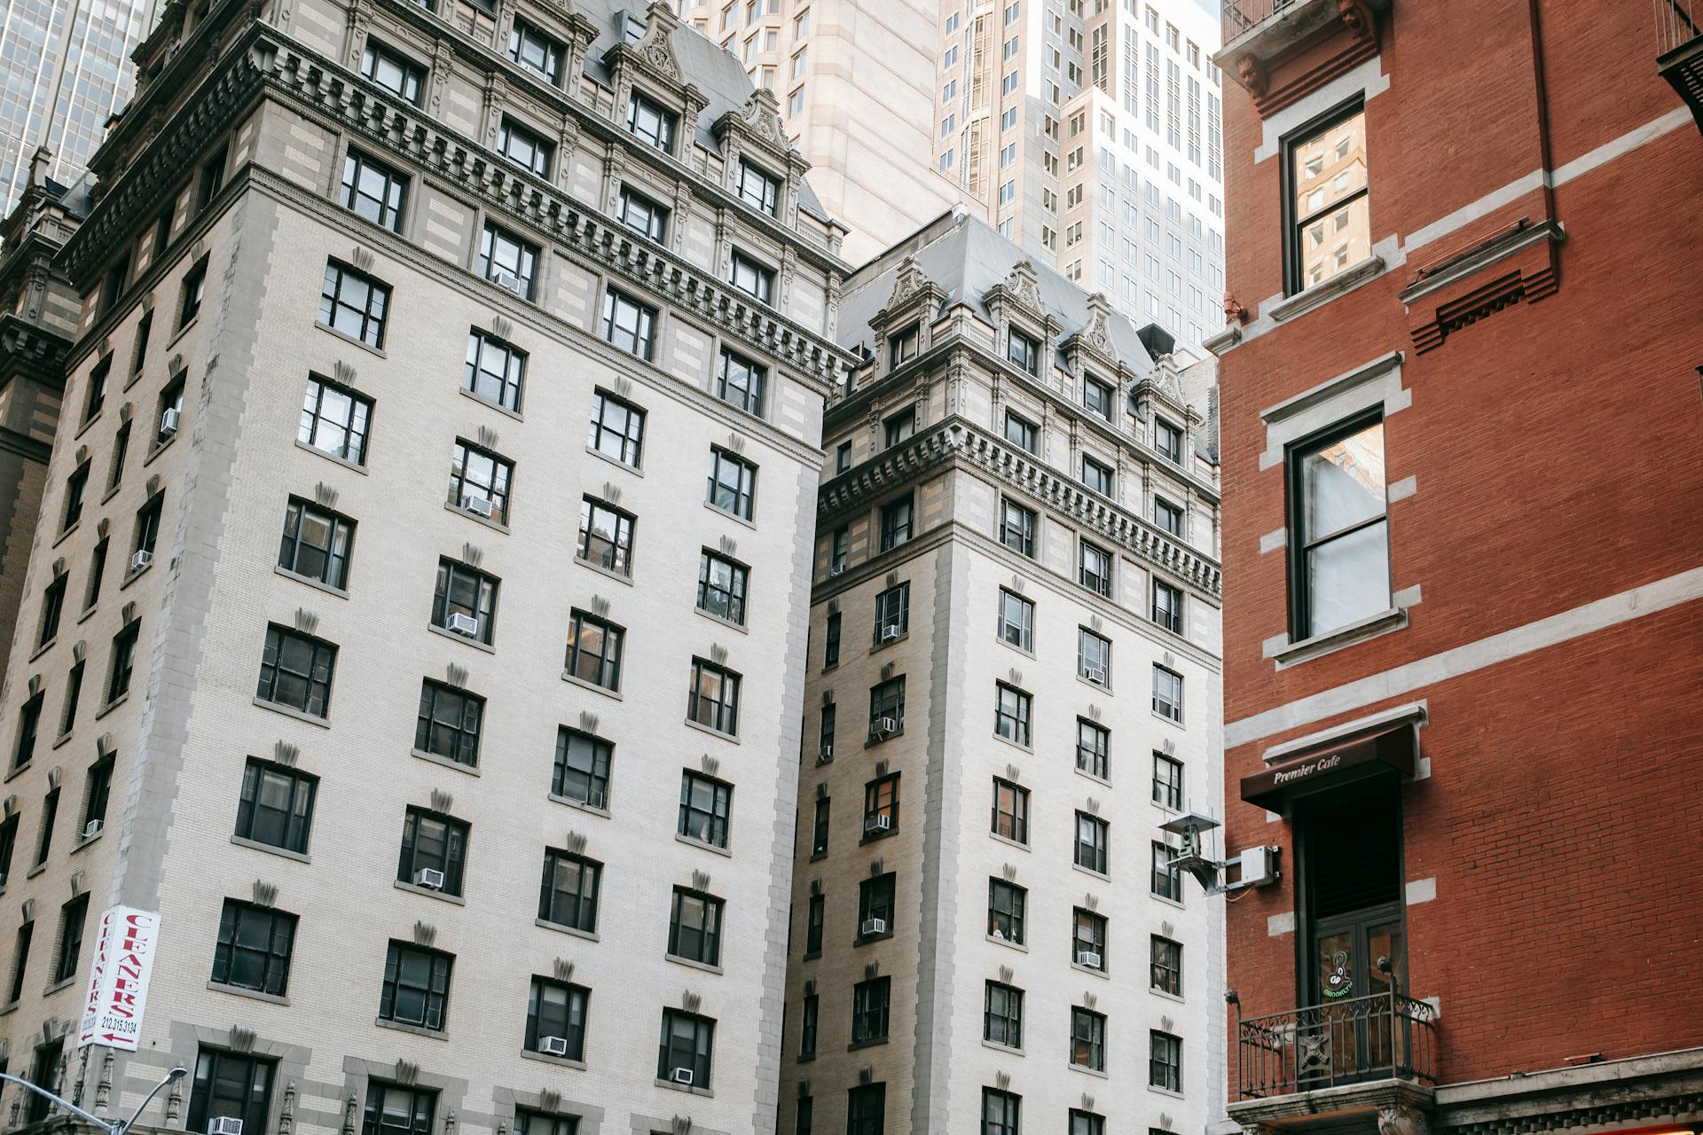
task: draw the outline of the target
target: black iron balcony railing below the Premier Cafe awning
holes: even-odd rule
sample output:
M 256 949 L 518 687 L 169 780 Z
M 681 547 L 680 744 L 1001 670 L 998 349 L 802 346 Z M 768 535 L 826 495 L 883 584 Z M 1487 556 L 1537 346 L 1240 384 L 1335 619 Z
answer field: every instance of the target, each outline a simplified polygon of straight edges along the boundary
M 1396 992 L 1236 1019 L 1238 1099 L 1405 1079 L 1436 1084 L 1436 1009 Z

